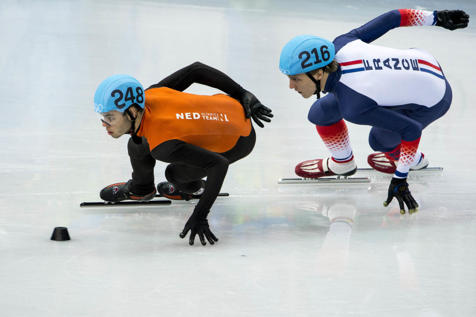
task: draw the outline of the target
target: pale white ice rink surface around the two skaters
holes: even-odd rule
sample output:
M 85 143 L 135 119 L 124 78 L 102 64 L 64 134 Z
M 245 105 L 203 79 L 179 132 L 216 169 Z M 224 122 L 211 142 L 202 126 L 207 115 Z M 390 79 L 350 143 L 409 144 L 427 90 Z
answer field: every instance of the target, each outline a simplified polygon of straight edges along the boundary
M 373 42 L 428 50 L 453 89 L 451 109 L 419 147 L 444 171 L 408 179 L 418 213 L 401 216 L 395 200 L 382 206 L 387 174 L 278 184 L 297 163 L 328 156 L 307 121 L 314 97 L 289 89 L 279 71 L 283 46 L 299 34 L 333 40 L 392 9 L 476 17 L 473 0 L 445 3 L 2 0 L 0 316 L 476 316 L 475 21 L 456 31 L 397 28 Z M 93 111 L 97 85 L 127 73 L 148 87 L 196 61 L 275 115 L 229 168 L 230 196 L 209 216 L 219 242 L 179 238 L 196 201 L 80 208 L 131 173 L 128 137 L 110 137 Z M 366 168 L 370 127 L 348 127 Z M 166 165 L 157 162 L 156 183 Z M 70 241 L 50 240 L 57 226 Z

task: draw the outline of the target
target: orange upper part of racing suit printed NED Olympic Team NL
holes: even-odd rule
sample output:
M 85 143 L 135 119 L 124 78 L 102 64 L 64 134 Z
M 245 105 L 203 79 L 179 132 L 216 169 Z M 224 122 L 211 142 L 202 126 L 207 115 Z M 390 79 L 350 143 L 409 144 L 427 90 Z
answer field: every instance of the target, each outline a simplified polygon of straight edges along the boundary
M 195 95 L 167 87 L 145 91 L 144 115 L 138 136 L 150 150 L 162 142 L 178 139 L 209 151 L 222 153 L 251 132 L 238 100 L 224 94 Z

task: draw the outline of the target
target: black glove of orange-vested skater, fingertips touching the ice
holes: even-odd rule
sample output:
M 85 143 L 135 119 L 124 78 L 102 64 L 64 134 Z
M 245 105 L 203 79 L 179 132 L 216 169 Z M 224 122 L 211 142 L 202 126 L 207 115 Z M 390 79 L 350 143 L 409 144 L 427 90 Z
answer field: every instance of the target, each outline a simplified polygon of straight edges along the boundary
M 207 215 L 210 210 L 195 206 L 193 209 L 193 213 L 188 218 L 185 227 L 183 227 L 182 232 L 180 233 L 180 238 L 185 238 L 188 231 L 190 231 L 190 238 L 188 240 L 188 244 L 193 246 L 193 241 L 195 240 L 195 235 L 198 234 L 198 238 L 200 238 L 200 242 L 202 246 L 205 246 L 207 243 L 205 242 L 205 236 L 208 242 L 213 245 L 215 242 L 218 241 L 217 237 L 210 231 L 210 226 L 208 225 Z

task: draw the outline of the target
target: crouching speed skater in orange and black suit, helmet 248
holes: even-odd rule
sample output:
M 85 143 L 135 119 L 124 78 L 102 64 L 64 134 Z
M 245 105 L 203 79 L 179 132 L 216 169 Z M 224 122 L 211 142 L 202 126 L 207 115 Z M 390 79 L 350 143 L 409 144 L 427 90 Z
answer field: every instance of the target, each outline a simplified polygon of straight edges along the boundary
M 225 94 L 183 92 L 192 83 Z M 156 160 L 170 163 L 165 170 L 168 182 L 157 186 L 159 193 L 169 199 L 198 199 L 180 238 L 191 231 L 190 245 L 196 234 L 202 245 L 205 239 L 211 245 L 217 242 L 207 220 L 210 208 L 228 166 L 254 147 L 256 134 L 250 118 L 264 127 L 262 121 L 271 122 L 273 117 L 271 109 L 223 72 L 196 62 L 145 90 L 129 75 L 110 76 L 96 90 L 94 110 L 102 116 L 109 135 L 131 135 L 127 150 L 132 179 L 104 188 L 101 198 L 110 202 L 154 198 Z

